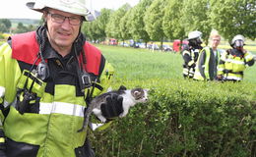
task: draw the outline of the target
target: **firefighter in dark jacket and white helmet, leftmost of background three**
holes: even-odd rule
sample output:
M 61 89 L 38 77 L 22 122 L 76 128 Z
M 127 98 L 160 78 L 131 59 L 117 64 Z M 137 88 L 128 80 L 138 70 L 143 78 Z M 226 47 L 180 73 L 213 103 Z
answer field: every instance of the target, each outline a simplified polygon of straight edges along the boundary
M 202 32 L 195 30 L 188 33 L 188 48 L 182 50 L 183 64 L 183 77 L 193 78 L 195 73 L 196 62 L 199 52 L 203 48 Z

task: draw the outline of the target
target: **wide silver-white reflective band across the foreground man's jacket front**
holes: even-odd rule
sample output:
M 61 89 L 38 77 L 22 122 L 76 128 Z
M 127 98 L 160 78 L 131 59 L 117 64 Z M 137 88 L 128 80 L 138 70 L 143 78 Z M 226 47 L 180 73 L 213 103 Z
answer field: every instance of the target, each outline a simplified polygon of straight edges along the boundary
M 49 115 L 52 113 L 84 117 L 85 106 L 65 102 L 40 102 L 39 114 Z

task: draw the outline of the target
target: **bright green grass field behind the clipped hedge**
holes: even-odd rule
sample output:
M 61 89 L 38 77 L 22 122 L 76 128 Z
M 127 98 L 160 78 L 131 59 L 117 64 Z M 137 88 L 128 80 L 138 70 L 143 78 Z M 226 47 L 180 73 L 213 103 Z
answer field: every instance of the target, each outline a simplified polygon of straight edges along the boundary
M 117 79 L 183 79 L 183 60 L 180 54 L 106 45 L 96 45 L 96 47 L 115 68 Z M 256 83 L 256 64 L 245 70 L 244 81 Z

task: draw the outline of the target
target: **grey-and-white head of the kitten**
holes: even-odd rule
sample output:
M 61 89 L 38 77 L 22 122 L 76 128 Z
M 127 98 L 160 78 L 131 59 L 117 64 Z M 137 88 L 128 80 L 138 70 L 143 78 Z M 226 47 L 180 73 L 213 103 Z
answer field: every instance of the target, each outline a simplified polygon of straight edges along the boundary
M 137 103 L 139 102 L 144 103 L 148 101 L 148 91 L 149 89 L 143 89 L 138 87 L 138 88 L 132 89 L 131 94 Z

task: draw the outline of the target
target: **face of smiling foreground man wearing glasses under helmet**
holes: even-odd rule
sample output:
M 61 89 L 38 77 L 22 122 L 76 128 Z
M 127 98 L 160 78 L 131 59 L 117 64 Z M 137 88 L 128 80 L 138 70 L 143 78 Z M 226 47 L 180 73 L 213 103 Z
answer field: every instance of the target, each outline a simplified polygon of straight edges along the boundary
M 52 47 L 71 48 L 82 24 L 81 16 L 49 9 L 48 12 L 44 13 L 44 17 L 48 26 L 48 37 Z

